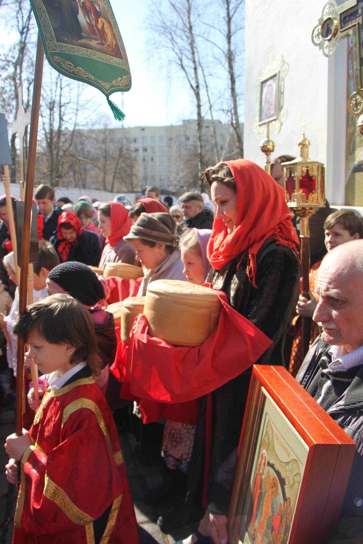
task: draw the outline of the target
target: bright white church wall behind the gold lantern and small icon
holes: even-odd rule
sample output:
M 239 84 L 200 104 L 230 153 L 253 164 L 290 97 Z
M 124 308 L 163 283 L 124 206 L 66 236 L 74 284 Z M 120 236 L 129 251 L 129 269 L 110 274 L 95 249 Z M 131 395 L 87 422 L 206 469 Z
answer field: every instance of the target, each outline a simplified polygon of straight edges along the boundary
M 272 160 L 281 154 L 297 156 L 305 120 L 310 157 L 325 164 L 327 197 L 330 203 L 343 205 L 347 45 L 346 40 L 340 42 L 329 59 L 313 46 L 311 33 L 323 5 L 324 0 L 245 0 L 244 156 L 263 166 L 264 154 L 252 129 L 255 83 L 272 45 L 275 58 L 282 54 L 289 65 L 284 97 L 287 120 L 279 134 L 270 134 L 275 142 Z

